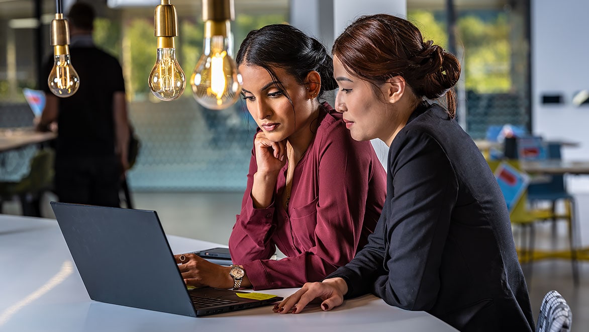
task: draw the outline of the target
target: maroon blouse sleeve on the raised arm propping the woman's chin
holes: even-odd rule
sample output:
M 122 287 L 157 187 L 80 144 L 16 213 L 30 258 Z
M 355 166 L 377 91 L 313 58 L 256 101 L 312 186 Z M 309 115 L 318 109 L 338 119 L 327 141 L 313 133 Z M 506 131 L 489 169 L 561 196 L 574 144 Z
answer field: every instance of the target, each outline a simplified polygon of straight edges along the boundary
M 276 246 L 272 242 L 274 224 L 274 203 L 268 208 L 256 209 L 252 200 L 254 174 L 257 171 L 256 156 L 252 149 L 247 186 L 241 200 L 241 212 L 229 237 L 229 251 L 234 264 L 244 264 L 257 259 L 268 259 L 274 255 Z

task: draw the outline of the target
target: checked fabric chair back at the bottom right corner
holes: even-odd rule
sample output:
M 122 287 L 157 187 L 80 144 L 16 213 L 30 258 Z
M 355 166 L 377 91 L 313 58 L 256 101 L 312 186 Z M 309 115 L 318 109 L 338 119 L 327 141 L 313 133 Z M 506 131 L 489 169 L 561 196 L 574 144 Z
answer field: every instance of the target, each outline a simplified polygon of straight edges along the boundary
M 536 332 L 568 332 L 573 324 L 573 312 L 567 300 L 557 291 L 549 291 L 540 305 Z

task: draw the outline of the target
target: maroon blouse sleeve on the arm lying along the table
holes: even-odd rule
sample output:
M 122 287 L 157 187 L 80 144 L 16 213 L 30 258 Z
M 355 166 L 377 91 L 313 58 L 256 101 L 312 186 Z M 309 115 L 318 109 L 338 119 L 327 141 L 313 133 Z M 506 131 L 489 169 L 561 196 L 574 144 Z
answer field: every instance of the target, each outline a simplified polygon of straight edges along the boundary
M 254 290 L 300 287 L 322 280 L 356 254 L 367 226 L 366 206 L 382 209 L 386 175 L 370 142 L 356 142 L 346 130 L 331 130 L 320 144 L 315 246 L 279 261 L 244 264 Z M 377 194 L 369 195 L 370 190 Z

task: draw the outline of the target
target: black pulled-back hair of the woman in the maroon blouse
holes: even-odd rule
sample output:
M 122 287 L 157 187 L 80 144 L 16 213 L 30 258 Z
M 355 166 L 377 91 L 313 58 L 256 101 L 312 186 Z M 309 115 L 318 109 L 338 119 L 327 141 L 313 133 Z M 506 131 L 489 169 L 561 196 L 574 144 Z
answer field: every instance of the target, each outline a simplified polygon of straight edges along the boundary
M 315 38 L 287 24 L 270 24 L 250 31 L 241 42 L 236 62 L 237 65 L 252 64 L 262 67 L 276 82 L 279 80 L 272 67 L 283 68 L 301 84 L 307 74 L 315 70 L 321 77 L 321 88 L 317 97 L 337 87 L 333 79 L 333 61 L 325 47 Z

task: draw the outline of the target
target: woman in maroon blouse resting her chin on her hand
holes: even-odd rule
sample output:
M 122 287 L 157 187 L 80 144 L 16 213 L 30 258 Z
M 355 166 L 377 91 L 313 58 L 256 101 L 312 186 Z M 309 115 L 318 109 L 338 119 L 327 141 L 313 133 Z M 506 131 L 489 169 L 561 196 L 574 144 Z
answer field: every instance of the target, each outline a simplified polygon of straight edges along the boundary
M 231 232 L 236 265 L 176 256 L 188 285 L 300 287 L 348 263 L 368 242 L 386 196 L 370 142 L 350 137 L 319 98 L 333 90 L 322 44 L 290 25 L 251 31 L 237 52 L 243 98 L 259 126 Z M 278 248 L 286 258 L 270 259 Z M 183 258 L 184 261 L 181 261 Z

